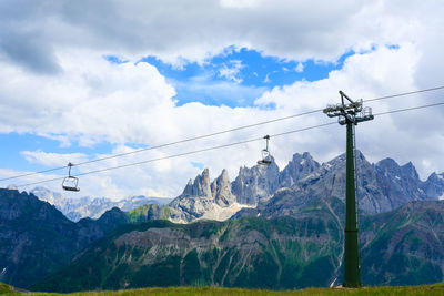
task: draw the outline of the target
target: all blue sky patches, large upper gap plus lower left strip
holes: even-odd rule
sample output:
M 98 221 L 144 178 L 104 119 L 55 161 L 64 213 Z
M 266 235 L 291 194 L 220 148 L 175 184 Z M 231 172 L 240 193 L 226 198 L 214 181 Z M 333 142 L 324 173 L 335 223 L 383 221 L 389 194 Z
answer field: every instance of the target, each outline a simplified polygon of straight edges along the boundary
M 203 63 L 184 61 L 181 67 L 162 62 L 155 57 L 147 57 L 139 62 L 154 65 L 158 71 L 171 83 L 176 95 L 176 105 L 190 102 L 200 102 L 205 105 L 253 106 L 254 100 L 265 91 L 276 86 L 293 84 L 296 81 L 316 81 L 329 76 L 333 70 L 341 69 L 344 60 L 353 54 L 352 51 L 340 57 L 334 62 L 306 60 L 303 62 L 279 59 L 264 55 L 252 49 L 226 48 L 223 53 L 206 59 Z M 118 55 L 103 55 L 110 63 L 125 63 L 128 60 Z M 228 70 L 226 70 L 228 69 Z M 231 71 L 232 70 L 232 71 Z M 225 73 L 225 72 L 226 73 Z M 273 108 L 273 106 L 270 106 Z M 48 153 L 83 153 L 94 159 L 94 155 L 111 153 L 117 144 L 101 142 L 92 146 L 62 145 L 57 140 L 30 133 L 0 134 L 1 141 L 8 142 L 2 147 L 0 162 L 4 169 L 14 167 L 23 171 L 41 171 L 47 169 L 37 163 L 28 162 L 21 151 L 44 151 Z M 119 143 L 138 149 L 141 143 Z M 195 162 L 194 166 L 202 169 Z

